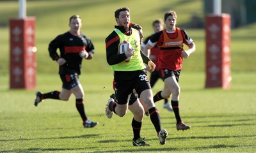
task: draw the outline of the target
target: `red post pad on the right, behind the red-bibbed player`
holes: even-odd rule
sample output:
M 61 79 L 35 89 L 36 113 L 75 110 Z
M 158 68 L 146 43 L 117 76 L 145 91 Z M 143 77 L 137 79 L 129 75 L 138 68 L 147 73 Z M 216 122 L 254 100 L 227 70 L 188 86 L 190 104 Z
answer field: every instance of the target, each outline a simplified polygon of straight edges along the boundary
M 208 15 L 205 23 L 205 87 L 229 89 L 230 73 L 230 15 Z

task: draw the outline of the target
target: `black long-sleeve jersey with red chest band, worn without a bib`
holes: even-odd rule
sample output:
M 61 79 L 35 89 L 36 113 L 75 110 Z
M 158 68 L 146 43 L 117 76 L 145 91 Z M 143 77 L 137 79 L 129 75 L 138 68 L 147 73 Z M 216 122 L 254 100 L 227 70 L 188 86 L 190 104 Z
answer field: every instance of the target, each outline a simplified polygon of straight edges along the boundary
M 57 53 L 58 48 L 60 55 Z M 54 38 L 49 44 L 48 50 L 52 60 L 57 61 L 61 57 L 67 61 L 59 68 L 59 74 L 61 75 L 72 73 L 80 75 L 83 59 L 79 55 L 80 52 L 86 50 L 89 54 L 88 59 L 92 59 L 94 54 L 94 46 L 90 38 L 82 33 L 79 36 L 74 36 L 69 31 Z

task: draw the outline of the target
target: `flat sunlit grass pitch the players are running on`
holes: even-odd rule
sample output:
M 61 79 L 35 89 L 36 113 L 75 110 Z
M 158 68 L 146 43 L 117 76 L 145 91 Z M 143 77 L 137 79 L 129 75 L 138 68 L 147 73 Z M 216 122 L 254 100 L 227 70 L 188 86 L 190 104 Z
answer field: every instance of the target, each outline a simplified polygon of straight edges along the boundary
M 192 126 L 176 131 L 175 117 L 156 103 L 163 128 L 170 136 L 161 146 L 150 119 L 145 117 L 141 136 L 150 147 L 132 146 L 132 114 L 108 119 L 104 107 L 111 89 L 111 74 L 90 73 L 81 77 L 88 117 L 99 122 L 84 129 L 74 96 L 69 101 L 45 99 L 33 106 L 35 91 L 0 88 L 1 152 L 255 152 L 256 73 L 234 73 L 232 88 L 204 89 L 204 73 L 182 72 L 180 115 Z M 6 77 L 0 77 L 8 82 Z M 93 79 L 92 79 L 93 78 Z M 244 82 L 243 80 L 247 80 Z M 154 92 L 163 87 L 157 82 Z M 58 75 L 39 75 L 42 92 L 60 89 Z

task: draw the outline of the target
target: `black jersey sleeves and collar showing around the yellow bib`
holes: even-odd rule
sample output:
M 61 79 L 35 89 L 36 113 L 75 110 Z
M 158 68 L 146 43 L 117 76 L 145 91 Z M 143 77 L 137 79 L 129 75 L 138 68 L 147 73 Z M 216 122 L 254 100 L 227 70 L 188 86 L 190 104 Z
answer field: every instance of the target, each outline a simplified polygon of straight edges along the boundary
M 132 24 L 130 24 L 130 32 L 129 33 L 127 33 L 125 31 L 124 27 L 122 27 L 122 26 L 115 25 L 115 28 L 119 29 L 122 33 L 126 34 L 127 36 L 130 36 L 132 33 L 131 25 Z M 115 31 L 113 31 L 111 34 L 109 34 L 109 36 L 105 40 L 105 43 L 106 43 L 106 52 L 107 52 L 106 57 L 107 57 L 107 62 L 109 65 L 118 64 L 119 62 L 122 62 L 127 58 L 124 53 L 117 54 L 118 44 L 120 43 L 120 38 Z M 150 59 L 147 57 L 147 55 L 145 55 L 142 51 L 140 52 L 140 54 L 143 59 L 143 62 L 145 64 L 148 64 L 148 61 L 150 61 Z

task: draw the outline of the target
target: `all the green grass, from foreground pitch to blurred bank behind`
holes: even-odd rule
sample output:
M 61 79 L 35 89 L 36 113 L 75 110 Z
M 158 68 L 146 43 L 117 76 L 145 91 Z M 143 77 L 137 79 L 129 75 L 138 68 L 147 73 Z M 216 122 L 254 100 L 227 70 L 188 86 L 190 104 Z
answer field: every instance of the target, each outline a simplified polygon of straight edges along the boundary
M 106 63 L 104 39 L 113 30 L 113 11 L 131 8 L 132 22 L 143 26 L 145 36 L 152 33 L 151 22 L 166 10 L 178 13 L 179 26 L 188 24 L 196 13 L 203 18 L 202 1 L 28 1 L 28 16 L 36 17 L 37 85 L 34 90 L 9 89 L 8 20 L 18 17 L 17 1 L 0 1 L 0 152 L 255 152 L 256 150 L 256 24 L 232 29 L 232 85 L 229 90 L 205 89 L 204 29 L 186 29 L 196 43 L 196 52 L 184 60 L 180 77 L 180 115 L 192 126 L 175 130 L 174 114 L 156 103 L 163 128 L 170 134 L 166 145 L 158 143 L 148 117 L 141 136 L 150 147 L 132 146 L 131 112 L 125 117 L 107 119 L 104 107 L 113 92 L 113 75 Z M 75 98 L 69 101 L 47 99 L 33 106 L 35 91 L 60 90 L 58 67 L 47 47 L 57 34 L 68 30 L 70 15 L 83 18 L 82 31 L 92 38 L 96 54 L 84 61 L 81 82 L 88 117 L 99 122 L 84 129 L 76 111 Z M 163 88 L 159 80 L 154 93 Z

